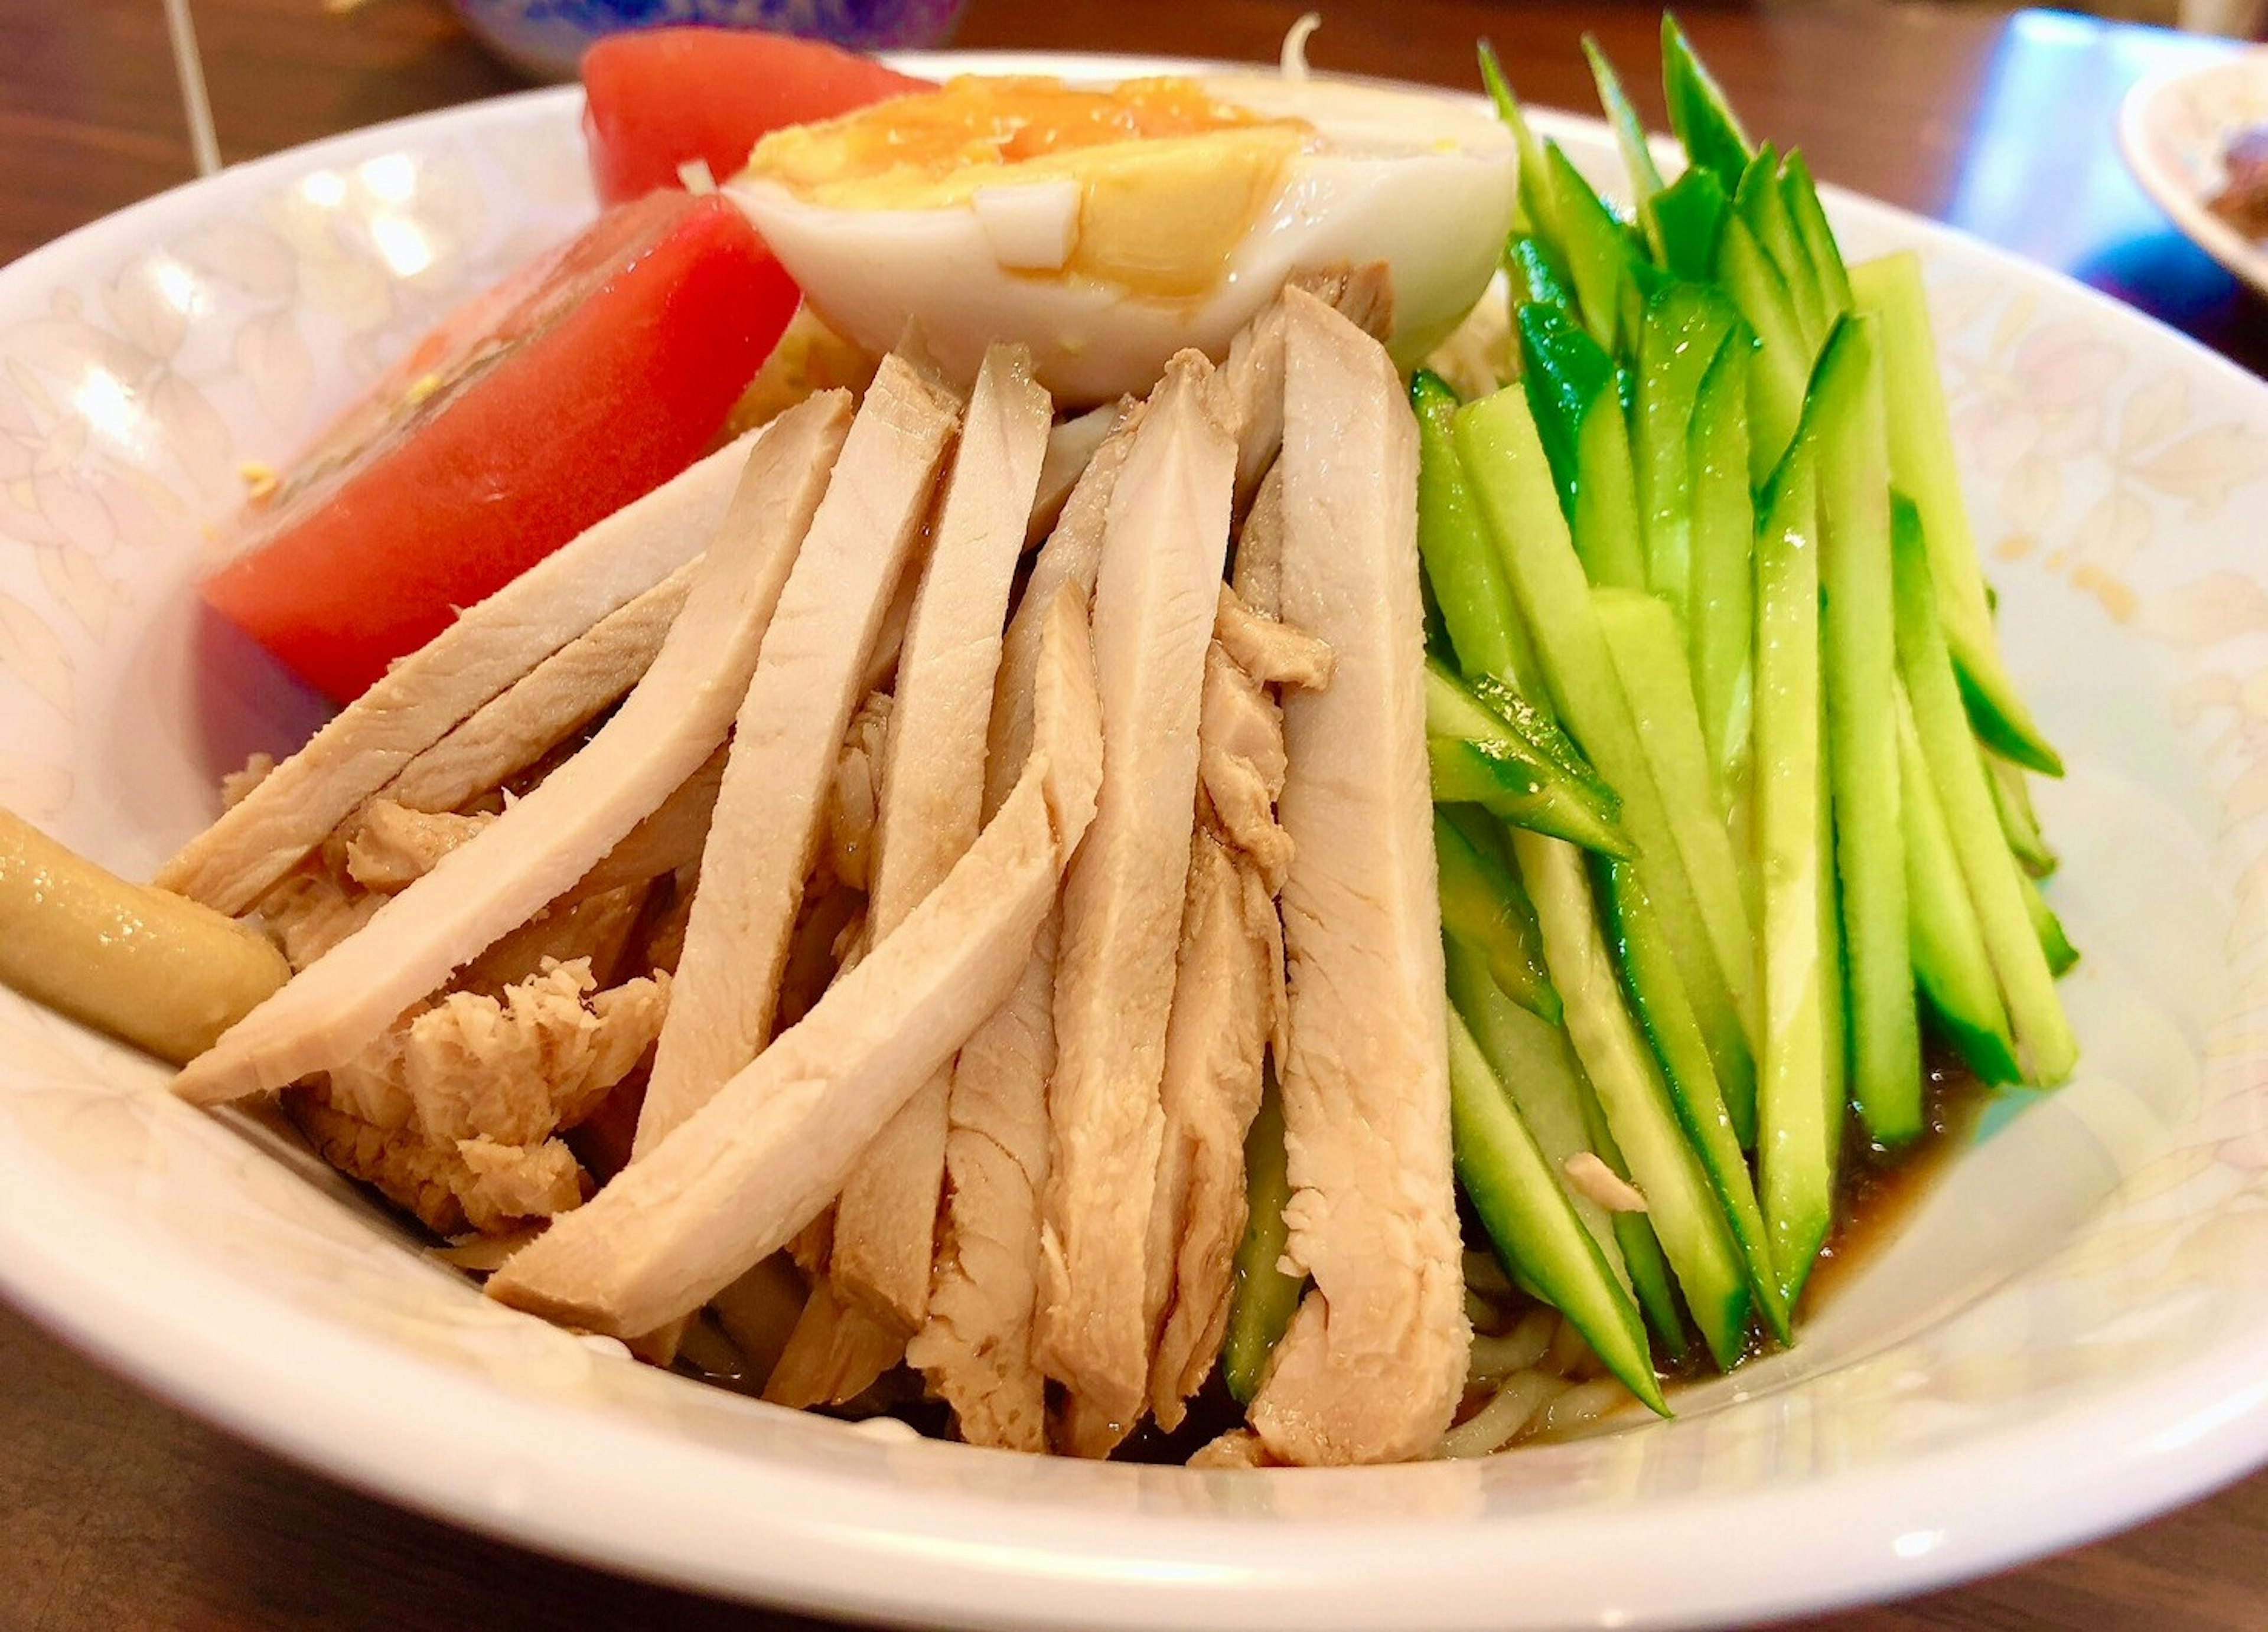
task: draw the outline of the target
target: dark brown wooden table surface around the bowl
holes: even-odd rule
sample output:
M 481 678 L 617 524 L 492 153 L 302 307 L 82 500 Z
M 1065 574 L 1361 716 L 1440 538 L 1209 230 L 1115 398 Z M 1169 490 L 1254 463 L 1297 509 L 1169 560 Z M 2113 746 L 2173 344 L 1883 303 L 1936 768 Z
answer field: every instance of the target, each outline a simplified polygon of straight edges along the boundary
M 957 43 L 1272 59 L 1306 2 L 971 0 Z M 442 0 L 352 16 L 318 0 L 195 9 L 231 161 L 519 84 Z M 1687 25 L 1749 122 L 1801 143 L 1821 177 L 1957 220 L 2268 363 L 2261 306 L 2170 233 L 2109 147 L 2121 91 L 2195 43 L 1862 0 L 1687 7 Z M 1653 27 L 1642 5 L 1343 0 L 1311 59 L 1470 84 L 1472 39 L 1490 34 L 1526 97 L 1588 107 L 1581 34 L 1635 66 L 1653 61 Z M 0 263 L 188 172 L 156 0 L 0 0 Z M 553 1625 L 812 1623 L 395 1512 L 145 1399 L 0 1308 L 0 1630 Z M 1817 1625 L 2268 1627 L 2268 1476 L 2077 1553 Z

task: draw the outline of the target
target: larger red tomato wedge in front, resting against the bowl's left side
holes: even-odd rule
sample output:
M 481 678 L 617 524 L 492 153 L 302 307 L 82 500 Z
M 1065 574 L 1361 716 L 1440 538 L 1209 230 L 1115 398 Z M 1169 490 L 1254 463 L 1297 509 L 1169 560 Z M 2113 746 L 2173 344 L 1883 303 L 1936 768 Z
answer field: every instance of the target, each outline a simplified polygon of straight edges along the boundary
M 476 297 L 245 517 L 204 598 L 333 700 L 685 469 L 796 311 L 719 197 L 655 193 Z

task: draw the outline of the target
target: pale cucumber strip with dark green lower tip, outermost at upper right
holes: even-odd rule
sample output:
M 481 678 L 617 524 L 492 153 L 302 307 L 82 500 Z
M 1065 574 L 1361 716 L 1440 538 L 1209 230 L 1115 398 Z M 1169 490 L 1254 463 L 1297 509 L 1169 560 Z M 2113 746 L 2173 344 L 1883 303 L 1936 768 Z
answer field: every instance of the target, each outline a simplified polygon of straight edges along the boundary
M 1882 381 L 1889 399 L 1889 465 L 1898 490 L 1921 512 L 1930 546 L 1930 578 L 1937 583 L 1937 617 L 1960 666 L 1962 700 L 1975 734 L 1989 748 L 2043 775 L 2064 775 L 2064 762 L 2041 734 L 2000 664 L 1991 628 L 1991 603 L 1969 505 L 1962 501 L 1960 465 L 1953 456 L 1953 419 L 1937 376 L 1937 342 L 1930 338 L 1930 306 L 1921 288 L 1921 261 L 1912 252 L 1851 267 L 1857 311 L 1882 324 Z

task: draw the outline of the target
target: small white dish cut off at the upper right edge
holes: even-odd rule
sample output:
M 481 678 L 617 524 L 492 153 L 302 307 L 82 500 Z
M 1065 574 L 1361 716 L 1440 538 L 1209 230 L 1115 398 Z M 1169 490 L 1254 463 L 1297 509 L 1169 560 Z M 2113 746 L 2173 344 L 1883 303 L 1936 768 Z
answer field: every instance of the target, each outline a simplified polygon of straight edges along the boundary
M 2141 190 L 2229 272 L 2268 295 L 2268 247 L 2207 209 L 2227 184 L 2223 152 L 2236 131 L 2268 122 L 2268 50 L 2170 63 L 2134 82 L 2118 104 L 2118 152 Z

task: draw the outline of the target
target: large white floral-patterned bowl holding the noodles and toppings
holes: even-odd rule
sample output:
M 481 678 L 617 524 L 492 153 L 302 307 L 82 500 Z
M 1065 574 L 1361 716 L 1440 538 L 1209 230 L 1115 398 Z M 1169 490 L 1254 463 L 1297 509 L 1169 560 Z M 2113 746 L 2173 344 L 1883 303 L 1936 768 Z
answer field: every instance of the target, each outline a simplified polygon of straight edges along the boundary
M 998 68 L 1000 59 L 955 59 Z M 1073 59 L 1025 68 L 1127 73 Z M 1581 163 L 1603 131 L 1549 118 Z M 590 209 L 576 95 L 245 165 L 0 272 L 0 802 L 152 868 L 313 709 L 186 585 L 277 458 Z M 0 995 L 0 1285 L 395 1501 L 721 1593 L 971 1625 L 1755 1618 L 2080 1541 L 2268 1455 L 2268 390 L 1894 211 L 1928 261 L 2087 1049 L 1789 1355 L 1486 1464 L 1188 1473 L 905 1444 L 501 1310 L 286 1140 Z

